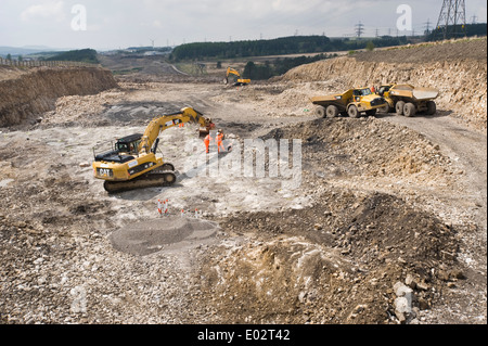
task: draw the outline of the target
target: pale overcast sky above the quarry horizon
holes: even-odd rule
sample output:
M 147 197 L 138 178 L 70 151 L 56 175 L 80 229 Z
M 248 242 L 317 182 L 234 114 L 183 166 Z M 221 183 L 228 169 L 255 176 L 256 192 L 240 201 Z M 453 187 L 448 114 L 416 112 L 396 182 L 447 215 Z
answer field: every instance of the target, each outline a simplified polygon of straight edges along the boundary
M 465 0 L 466 21 L 487 22 L 486 0 Z M 412 10 L 412 29 L 434 27 L 442 0 L 0 0 L 0 47 L 57 49 L 178 46 L 294 35 L 397 35 Z M 399 31 L 411 35 L 411 31 Z

